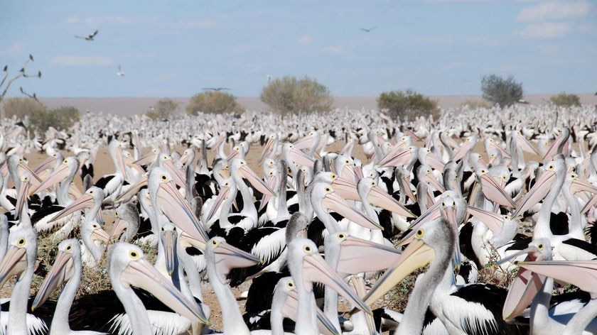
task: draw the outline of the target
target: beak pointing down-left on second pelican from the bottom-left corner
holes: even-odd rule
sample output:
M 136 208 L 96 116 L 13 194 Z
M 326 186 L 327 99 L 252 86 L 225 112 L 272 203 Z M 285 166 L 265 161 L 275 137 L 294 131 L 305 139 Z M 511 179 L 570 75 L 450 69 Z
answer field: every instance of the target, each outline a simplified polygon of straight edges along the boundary
M 43 279 L 36 298 L 33 300 L 31 311 L 40 307 L 46 300 L 48 300 L 50 295 L 52 295 L 52 292 L 62 285 L 63 282 L 70 280 L 74 273 L 75 266 L 74 260 L 72 260 L 72 254 L 58 251 L 58 256 L 56 256 L 54 265 L 52 265 L 50 272 Z

